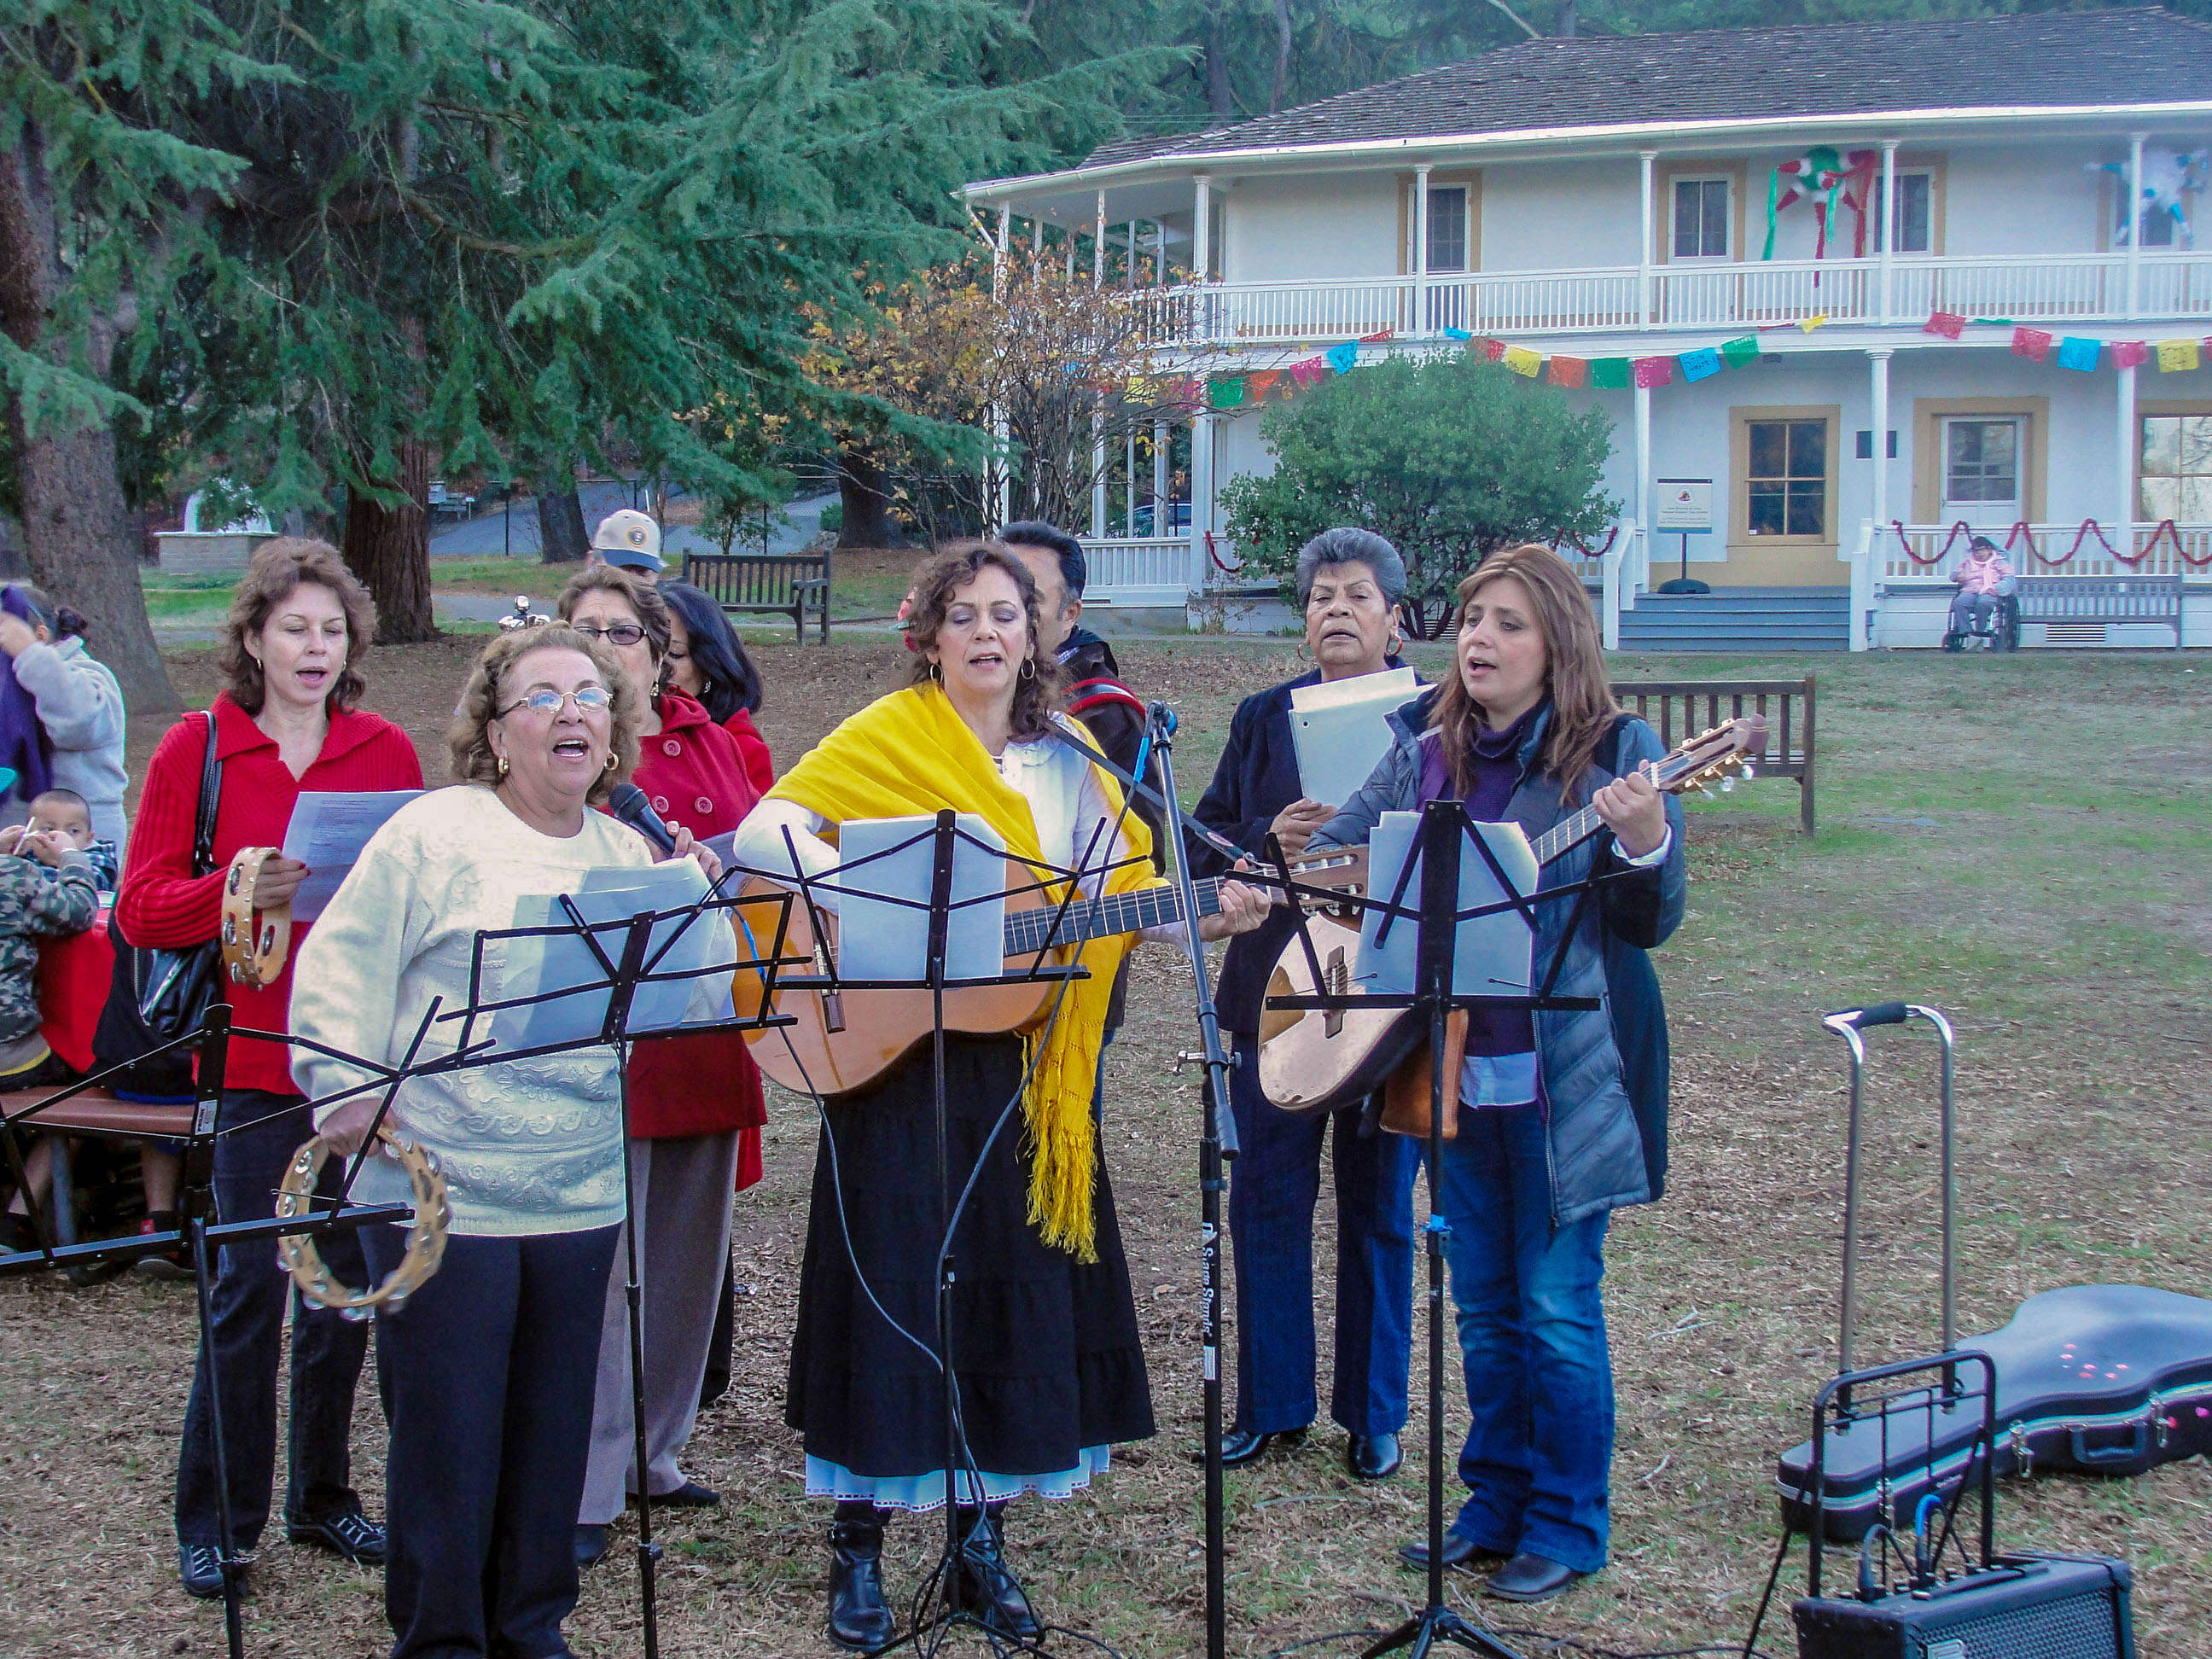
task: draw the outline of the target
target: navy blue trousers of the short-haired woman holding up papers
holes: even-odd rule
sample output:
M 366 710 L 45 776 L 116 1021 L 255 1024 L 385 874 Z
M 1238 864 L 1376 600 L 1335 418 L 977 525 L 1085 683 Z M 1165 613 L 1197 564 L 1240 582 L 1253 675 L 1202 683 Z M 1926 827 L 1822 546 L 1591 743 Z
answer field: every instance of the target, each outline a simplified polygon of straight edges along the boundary
M 1321 1148 L 1336 1175 L 1336 1385 L 1347 1433 L 1405 1427 L 1413 1329 L 1413 1168 L 1402 1135 L 1360 1137 L 1358 1108 L 1294 1115 L 1259 1093 L 1259 1037 L 1237 1035 L 1230 1164 L 1237 1259 L 1237 1427 L 1283 1433 L 1314 1420 L 1314 1203 Z

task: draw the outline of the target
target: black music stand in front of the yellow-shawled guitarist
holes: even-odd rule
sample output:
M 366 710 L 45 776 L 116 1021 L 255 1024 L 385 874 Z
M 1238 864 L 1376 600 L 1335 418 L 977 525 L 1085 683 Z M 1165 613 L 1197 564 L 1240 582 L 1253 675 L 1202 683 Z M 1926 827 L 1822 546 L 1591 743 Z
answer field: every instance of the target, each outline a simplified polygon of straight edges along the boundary
M 951 810 L 940 810 L 936 814 L 936 821 L 929 827 L 918 830 L 907 841 L 900 841 L 900 843 L 896 843 L 891 847 L 883 847 L 880 852 L 867 854 L 863 858 L 856 858 L 856 860 L 849 860 L 849 863 L 841 863 L 838 869 L 836 869 L 836 878 L 834 880 L 830 880 L 825 876 L 807 876 L 805 874 L 805 865 L 799 860 L 799 852 L 790 843 L 790 832 L 785 832 L 785 852 L 790 856 L 790 865 L 787 867 L 781 867 L 781 869 L 741 869 L 741 872 L 730 872 L 730 874 L 752 874 L 752 876 L 763 876 L 763 878 L 768 878 L 772 883 L 794 885 L 799 889 L 796 898 L 807 907 L 807 920 L 810 920 L 810 925 L 814 929 L 814 938 L 816 938 L 816 942 L 823 945 L 818 962 L 814 964 L 816 971 L 814 973 L 796 973 L 796 975 L 785 973 L 779 980 L 779 989 L 787 989 L 787 991 L 821 991 L 823 998 L 825 998 L 825 1002 L 838 998 L 845 991 L 929 991 L 929 1000 L 931 1000 L 931 1033 L 929 1033 L 929 1042 L 931 1042 L 931 1104 L 933 1104 L 933 1110 L 936 1110 L 936 1177 L 938 1177 L 938 1228 L 940 1228 L 940 1232 L 938 1232 L 938 1254 L 936 1254 L 936 1267 L 933 1267 L 933 1272 L 936 1272 L 936 1349 L 929 1349 L 929 1345 L 920 1343 L 920 1338 L 916 1338 L 911 1332 L 898 1329 L 898 1334 L 905 1336 L 909 1343 L 916 1343 L 916 1347 L 922 1347 L 925 1354 L 929 1354 L 929 1358 L 938 1367 L 938 1376 L 942 1380 L 940 1394 L 942 1394 L 942 1413 L 945 1413 L 945 1548 L 938 1555 L 936 1566 L 925 1575 L 920 1588 L 914 1595 L 914 1606 L 911 1606 L 911 1613 L 909 1613 L 907 1635 L 894 1639 L 885 1648 L 876 1648 L 876 1652 L 894 1652 L 894 1650 L 905 1648 L 909 1644 L 918 1648 L 922 1644 L 925 1635 L 927 1637 L 938 1637 L 938 1635 L 942 1635 L 947 1630 L 953 1630 L 953 1628 L 982 1630 L 984 1637 L 991 1641 L 993 1652 L 1044 1652 L 1042 1641 L 1024 1641 L 1024 1639 L 1020 1639 L 1020 1637 L 1015 1637 L 1011 1632 L 998 1630 L 995 1626 L 987 1624 L 984 1619 L 975 1617 L 973 1613 L 967 1613 L 960 1606 L 956 1606 L 956 1595 L 958 1595 L 956 1575 L 960 1571 L 960 1557 L 962 1557 L 962 1551 L 967 1546 L 967 1542 L 960 1537 L 960 1513 L 958 1513 L 960 1473 L 980 1473 L 980 1471 L 975 1471 L 971 1467 L 973 1458 L 967 1455 L 967 1436 L 964 1436 L 964 1431 L 960 1427 L 958 1367 L 956 1367 L 956 1360 L 953 1360 L 953 1354 L 956 1354 L 956 1343 L 953 1343 L 953 1338 L 956 1338 L 953 1325 L 956 1323 L 953 1323 L 953 1298 L 951 1298 L 953 1274 L 956 1274 L 956 1263 L 953 1263 L 953 1232 L 960 1225 L 960 1212 L 962 1212 L 962 1206 L 967 1201 L 967 1192 L 962 1192 L 958 1201 L 953 1199 L 953 1192 L 951 1192 L 951 1164 L 949 1164 L 949 1152 L 947 1152 L 947 1099 L 945 1099 L 945 1035 L 947 1035 L 945 1033 L 945 993 L 947 991 L 982 989 L 982 987 L 1004 987 L 1004 984 L 1040 984 L 1040 982 L 1062 982 L 1064 984 L 1068 980 L 1091 978 L 1088 969 L 1084 969 L 1079 964 L 1075 964 L 1075 967 L 1048 967 L 1044 958 L 1046 958 L 1046 953 L 1057 942 L 1062 942 L 1064 920 L 1066 920 L 1068 911 L 1079 900 L 1082 883 L 1091 880 L 1091 878 L 1097 878 L 1102 874 L 1108 874 L 1115 865 L 1108 863 L 1108 865 L 1091 867 L 1088 865 L 1088 856 L 1091 856 L 1091 852 L 1095 852 L 1095 847 L 1084 849 L 1084 856 L 1079 858 L 1079 863 L 1077 863 L 1075 869 L 1062 869 L 1062 867 L 1044 863 L 1044 860 L 1018 858 L 1015 854 L 1009 854 L 1004 847 L 995 847 L 995 845 L 991 845 L 987 841 L 980 841 L 980 838 L 971 836 L 967 830 L 960 827 L 958 816 L 960 814 L 956 814 Z M 953 898 L 953 854 L 956 854 L 956 847 L 962 845 L 962 843 L 967 843 L 971 847 L 978 847 L 978 849 L 991 854 L 993 858 L 1002 858 L 1006 863 L 1020 863 L 1020 865 L 1024 865 L 1029 869 L 1029 874 L 1031 874 L 1033 880 L 1026 887 L 1011 887 L 1011 889 L 1009 887 L 998 887 L 998 889 L 993 889 L 989 894 L 980 894 L 975 898 Z M 931 849 L 931 874 L 929 874 L 929 896 L 927 898 L 911 898 L 907 894 L 891 894 L 891 891 L 869 891 L 869 889 L 852 885 L 852 874 L 856 869 L 865 869 L 872 863 L 878 863 L 878 860 L 885 860 L 885 858 L 894 858 L 896 854 L 909 852 L 911 847 L 918 847 L 918 845 L 929 845 L 929 849 Z M 949 942 L 949 933 L 951 933 L 951 916 L 953 916 L 953 911 L 960 911 L 960 909 L 967 909 L 967 907 L 973 907 L 973 905 L 987 905 L 987 902 L 998 900 L 998 898 L 1015 898 L 1015 896 L 1024 896 L 1024 894 L 1031 894 L 1031 891 L 1048 891 L 1055 885 L 1062 885 L 1064 891 L 1062 891 L 1060 900 L 1055 900 L 1055 909 L 1048 914 L 1051 916 L 1048 925 L 1042 927 L 1042 929 L 1037 929 L 1037 936 L 1035 936 L 1033 942 L 1024 945 L 1024 951 L 1029 951 L 1033 947 L 1033 956 L 1031 956 L 1029 967 L 1024 971 L 1020 971 L 1020 973 L 984 973 L 984 975 L 953 975 L 949 971 L 951 962 L 947 960 L 947 942 Z M 925 971 L 922 971 L 922 978 L 918 978 L 918 980 L 854 980 L 854 978 L 841 975 L 838 967 L 836 967 L 836 960 L 834 960 L 834 953 L 827 949 L 830 931 L 823 925 L 823 911 L 825 911 L 825 907 L 818 902 L 816 889 L 834 891 L 834 894 L 838 894 L 838 898 L 865 898 L 865 900 L 874 900 L 874 902 L 885 902 L 885 905 L 898 905 L 898 907 L 905 907 L 905 909 L 927 911 L 927 916 L 929 916 L 929 933 L 927 933 L 927 945 L 925 945 Z M 1079 936 L 1075 936 L 1075 942 L 1079 942 Z M 783 949 L 783 938 L 781 936 L 776 940 L 776 949 L 779 949 L 779 953 Z M 1060 1018 L 1060 1011 L 1055 1006 L 1053 1013 L 1048 1015 L 1048 1022 L 1057 1020 L 1057 1018 Z M 785 1020 L 785 1024 L 790 1024 L 790 1020 Z M 1051 1024 L 1046 1024 L 1046 1031 L 1048 1029 L 1051 1029 Z M 1024 1077 L 1024 1093 L 1026 1093 L 1026 1077 Z M 821 1102 L 821 1093 L 816 1091 L 816 1104 L 818 1102 Z M 1000 1115 L 1000 1128 L 1004 1126 L 1006 1117 L 1011 1117 L 1020 1108 L 1020 1104 L 1022 1104 L 1022 1095 L 1015 1095 L 1006 1104 L 1006 1110 Z M 825 1133 L 827 1133 L 827 1119 L 825 1119 Z M 993 1128 L 993 1137 L 998 1133 L 1000 1130 Z M 841 1192 L 838 1201 L 843 1203 L 843 1192 Z M 971 1482 L 971 1493 L 975 1498 L 975 1506 L 984 1509 L 989 1500 L 984 1498 L 980 1482 Z M 1026 1601 L 1026 1593 L 1024 1593 L 1024 1601 Z M 929 1615 L 927 1621 L 925 1621 L 925 1613 Z

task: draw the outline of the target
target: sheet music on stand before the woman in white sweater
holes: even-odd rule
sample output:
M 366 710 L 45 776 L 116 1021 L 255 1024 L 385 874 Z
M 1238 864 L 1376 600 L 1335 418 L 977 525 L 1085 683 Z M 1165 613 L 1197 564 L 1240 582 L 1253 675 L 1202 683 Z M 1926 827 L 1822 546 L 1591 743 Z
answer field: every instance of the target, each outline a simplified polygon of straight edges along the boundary
M 628 922 L 641 911 L 670 911 L 706 896 L 706 872 L 692 858 L 668 858 L 648 867 L 586 869 L 568 898 L 586 922 Z M 573 927 L 560 894 L 524 894 L 515 900 L 511 927 Z M 608 960 L 622 960 L 624 933 L 617 927 L 597 929 L 593 938 Z M 675 945 L 670 945 L 675 940 Z M 666 951 L 666 953 L 664 953 Z M 659 958 L 655 962 L 655 958 Z M 710 967 L 734 967 L 728 922 L 717 911 L 699 916 L 664 916 L 653 925 L 646 951 L 653 973 L 688 973 Z M 522 1009 L 500 1009 L 491 1018 L 491 1040 L 500 1048 L 540 1048 L 553 1042 L 577 1042 L 606 1024 L 613 998 L 606 967 L 577 936 L 511 938 L 500 942 L 498 984 L 487 1000 L 538 998 L 562 987 L 568 995 Z M 684 1024 L 697 991 L 697 980 L 648 982 L 630 1002 L 633 1035 L 675 1031 Z M 730 984 L 723 975 L 719 1002 L 728 1013 Z M 701 1015 L 710 1018 L 710 1015 Z

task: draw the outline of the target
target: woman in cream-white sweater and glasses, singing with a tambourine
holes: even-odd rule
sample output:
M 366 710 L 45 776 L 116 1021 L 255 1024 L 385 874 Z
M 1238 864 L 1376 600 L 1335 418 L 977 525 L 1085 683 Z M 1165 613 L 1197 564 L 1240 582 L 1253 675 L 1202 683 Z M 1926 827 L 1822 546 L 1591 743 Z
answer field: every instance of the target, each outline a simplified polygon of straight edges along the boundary
M 476 936 L 513 927 L 520 898 L 653 863 L 644 836 L 588 810 L 637 761 L 635 692 L 597 641 L 566 626 L 493 641 L 449 743 L 462 783 L 394 814 L 307 936 L 294 1035 L 398 1064 L 434 998 L 469 1002 Z M 502 949 L 484 951 L 487 998 Z M 701 980 L 695 1018 L 708 1009 Z M 460 1022 L 434 1026 L 425 1055 L 451 1053 L 458 1033 Z M 374 1077 L 307 1048 L 292 1075 L 319 1102 Z M 575 1506 L 622 1223 L 619 1093 L 613 1048 L 575 1048 L 416 1077 L 387 1117 L 436 1155 L 453 1208 L 436 1276 L 376 1321 L 394 1659 L 568 1652 L 560 1626 L 577 1597 Z M 319 1106 L 316 1128 L 349 1150 L 376 1102 L 372 1091 Z M 405 1201 L 407 1183 L 372 1157 L 354 1192 Z M 403 1245 L 398 1228 L 363 1230 L 378 1276 Z

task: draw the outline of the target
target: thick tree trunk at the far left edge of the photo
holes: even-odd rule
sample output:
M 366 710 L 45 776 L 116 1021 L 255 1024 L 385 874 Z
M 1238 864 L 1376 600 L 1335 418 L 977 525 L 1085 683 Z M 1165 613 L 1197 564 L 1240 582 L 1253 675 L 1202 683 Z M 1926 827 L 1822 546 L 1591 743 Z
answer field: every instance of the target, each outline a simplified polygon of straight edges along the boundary
M 44 135 L 33 122 L 22 122 L 15 144 L 0 150 L 0 330 L 24 352 L 53 361 L 64 358 L 64 343 L 44 334 L 60 288 L 60 219 Z M 93 372 L 102 378 L 124 327 L 128 321 L 117 316 L 93 323 Z M 15 447 L 22 544 L 31 575 L 58 604 L 84 613 L 91 624 L 86 644 L 115 670 L 131 708 L 179 708 L 177 688 L 168 684 L 146 619 L 113 429 L 95 425 L 62 431 L 49 420 L 33 436 L 24 425 L 22 400 L 9 396 L 7 431 Z

